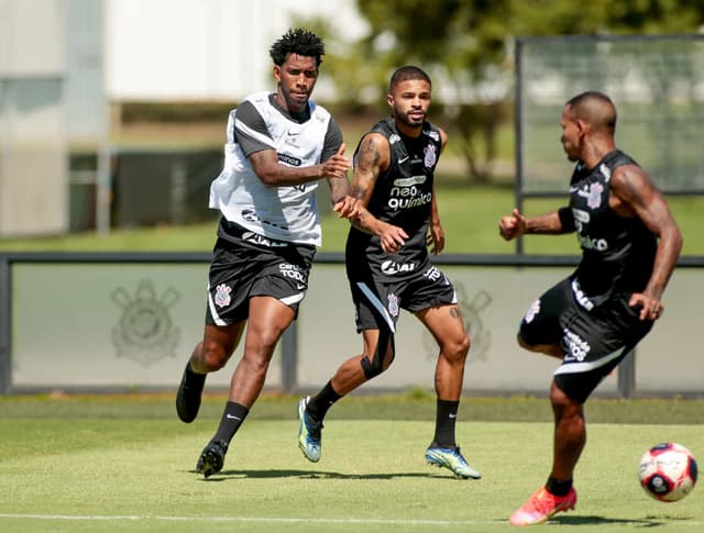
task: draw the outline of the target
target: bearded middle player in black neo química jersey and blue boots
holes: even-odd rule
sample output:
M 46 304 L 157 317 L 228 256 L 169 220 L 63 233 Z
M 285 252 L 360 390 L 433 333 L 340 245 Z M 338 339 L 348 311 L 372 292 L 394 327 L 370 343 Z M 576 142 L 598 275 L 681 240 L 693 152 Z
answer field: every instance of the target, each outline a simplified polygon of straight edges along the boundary
M 374 125 L 354 154 L 352 196 L 360 214 L 350 216 L 345 264 L 363 351 L 342 363 L 318 395 L 299 401 L 298 444 L 308 460 L 320 459 L 328 409 L 388 368 L 405 309 L 440 347 L 436 433 L 426 459 L 477 479 L 481 474 L 460 453 L 454 431 L 470 338 L 454 288 L 428 254 L 428 246 L 432 253 L 444 246 L 433 175 L 447 143 L 446 132 L 426 121 L 430 91 L 430 78 L 420 68 L 396 70 L 387 95 L 392 116 Z

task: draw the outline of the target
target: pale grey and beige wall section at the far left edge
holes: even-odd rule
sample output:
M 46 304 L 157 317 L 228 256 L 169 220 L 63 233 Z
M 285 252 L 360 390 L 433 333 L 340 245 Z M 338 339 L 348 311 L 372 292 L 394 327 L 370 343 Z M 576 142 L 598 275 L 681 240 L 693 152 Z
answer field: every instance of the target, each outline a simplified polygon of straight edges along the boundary
M 66 4 L 0 0 L 0 236 L 67 229 Z

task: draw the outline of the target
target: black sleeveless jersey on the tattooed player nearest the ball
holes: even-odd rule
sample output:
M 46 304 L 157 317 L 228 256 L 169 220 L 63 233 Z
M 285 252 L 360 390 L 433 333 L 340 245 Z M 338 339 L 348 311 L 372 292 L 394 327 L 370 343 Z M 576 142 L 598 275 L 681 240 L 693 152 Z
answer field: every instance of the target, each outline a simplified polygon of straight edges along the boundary
M 582 247 L 573 286 L 580 303 L 591 309 L 612 295 L 641 292 L 652 273 L 657 238 L 638 216 L 624 218 L 608 206 L 614 170 L 637 163 L 620 151 L 596 167 L 579 163 L 570 184 L 570 208 Z

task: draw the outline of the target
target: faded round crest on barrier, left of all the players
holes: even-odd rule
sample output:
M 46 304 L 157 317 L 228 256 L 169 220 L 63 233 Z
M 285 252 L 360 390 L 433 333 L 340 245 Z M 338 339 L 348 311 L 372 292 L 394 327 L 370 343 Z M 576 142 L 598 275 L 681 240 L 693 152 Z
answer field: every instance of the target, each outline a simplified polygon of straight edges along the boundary
M 127 357 L 148 367 L 176 355 L 180 330 L 174 326 L 169 309 L 180 299 L 174 288 L 157 296 L 154 284 L 143 279 L 131 295 L 118 287 L 111 295 L 122 308 L 122 317 L 112 329 L 112 344 L 118 357 Z

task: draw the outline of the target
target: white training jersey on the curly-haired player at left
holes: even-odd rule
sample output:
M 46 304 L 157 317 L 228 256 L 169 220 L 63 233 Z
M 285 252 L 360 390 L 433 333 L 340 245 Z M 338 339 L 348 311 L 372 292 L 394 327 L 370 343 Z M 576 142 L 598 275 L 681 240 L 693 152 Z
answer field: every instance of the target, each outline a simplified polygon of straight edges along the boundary
M 264 119 L 268 136 L 238 121 L 237 109 L 230 111 L 224 165 L 210 185 L 209 207 L 219 209 L 227 220 L 260 235 L 320 246 L 320 215 L 315 193 L 318 181 L 267 187 L 237 144 L 234 130 L 245 131 L 275 149 L 279 164 L 308 167 L 320 162 L 330 113 L 309 102 L 310 119 L 297 123 L 274 108 L 268 97 L 268 92 L 257 92 L 246 99 Z

